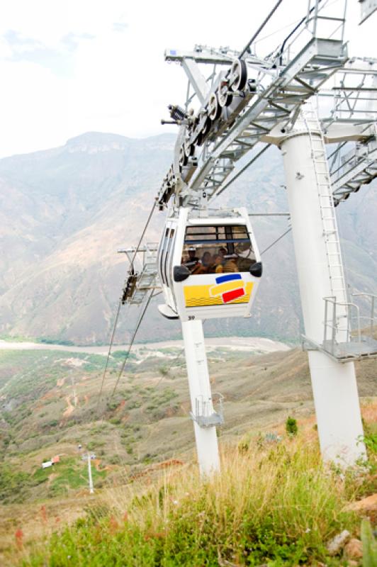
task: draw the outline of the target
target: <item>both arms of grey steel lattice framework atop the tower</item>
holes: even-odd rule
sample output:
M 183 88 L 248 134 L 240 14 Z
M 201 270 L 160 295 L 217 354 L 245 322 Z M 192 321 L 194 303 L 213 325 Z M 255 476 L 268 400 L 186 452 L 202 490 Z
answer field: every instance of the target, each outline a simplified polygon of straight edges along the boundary
M 169 107 L 180 129 L 174 162 L 157 196 L 160 208 L 171 196 L 176 205 L 195 205 L 203 194 L 210 199 L 226 189 L 239 175 L 232 173 L 237 161 L 259 142 L 278 144 L 293 128 L 303 103 L 319 94 L 332 75 L 337 86 L 327 96 L 332 96 L 334 108 L 322 125 L 326 142 L 339 142 L 331 155 L 335 203 L 373 179 L 377 89 L 368 82 L 376 81 L 376 64 L 347 63 L 345 18 L 327 15 L 328 4 L 310 2 L 303 26 L 264 59 L 252 55 L 252 45 L 241 54 L 206 46 L 165 52 L 165 60 L 183 67 L 188 90 L 184 108 Z M 318 37 L 322 21 L 333 28 L 326 38 Z M 208 65 L 205 79 L 200 66 Z M 352 140 L 356 147 L 347 157 L 342 150 Z M 259 147 L 249 164 L 265 148 Z

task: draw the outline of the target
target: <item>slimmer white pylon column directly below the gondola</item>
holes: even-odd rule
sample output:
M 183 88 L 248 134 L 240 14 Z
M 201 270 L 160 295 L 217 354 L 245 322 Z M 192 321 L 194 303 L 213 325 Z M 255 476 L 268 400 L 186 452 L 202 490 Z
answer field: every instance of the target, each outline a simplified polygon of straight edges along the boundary
M 203 323 L 201 320 L 182 321 L 182 334 L 184 337 L 191 410 L 195 416 L 196 408 L 198 405 L 202 407 L 203 403 L 207 408 L 213 410 Z M 201 475 L 208 476 L 216 471 L 220 471 L 216 427 L 201 427 L 194 421 L 193 429 Z

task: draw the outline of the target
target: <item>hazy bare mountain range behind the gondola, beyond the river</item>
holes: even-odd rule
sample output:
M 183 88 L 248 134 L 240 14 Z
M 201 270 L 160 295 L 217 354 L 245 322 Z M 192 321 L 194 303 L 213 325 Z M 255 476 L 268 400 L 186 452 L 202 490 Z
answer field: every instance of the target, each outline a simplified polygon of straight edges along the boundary
M 126 271 L 118 247 L 133 245 L 171 162 L 174 136 L 146 140 L 86 133 L 64 147 L 0 160 L 0 333 L 90 344 L 106 342 Z M 250 212 L 286 211 L 281 156 L 270 149 L 219 204 Z M 339 206 L 351 286 L 376 291 L 377 228 L 373 186 Z M 164 213 L 147 235 L 159 239 Z M 263 250 L 286 218 L 254 220 Z M 297 340 L 300 306 L 290 235 L 266 252 L 264 281 L 248 320 L 206 323 L 208 335 Z M 116 341 L 130 336 L 137 310 L 121 313 Z M 177 337 L 176 322 L 152 305 L 140 339 Z

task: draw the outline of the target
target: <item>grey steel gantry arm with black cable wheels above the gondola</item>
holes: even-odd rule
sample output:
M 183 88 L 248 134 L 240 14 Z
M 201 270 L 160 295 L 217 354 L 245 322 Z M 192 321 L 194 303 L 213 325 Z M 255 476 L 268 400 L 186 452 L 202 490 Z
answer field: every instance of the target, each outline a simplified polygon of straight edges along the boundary
M 271 142 L 276 128 L 292 128 L 303 103 L 344 68 L 344 18 L 327 16 L 327 4 L 309 2 L 302 25 L 264 59 L 252 55 L 252 45 L 242 53 L 206 46 L 165 52 L 167 61 L 185 70 L 194 94 L 190 101 L 196 95 L 197 104 L 177 120 L 182 141 L 159 190 L 160 207 L 173 195 L 193 204 L 203 191 L 207 198 L 222 191 L 236 162 L 259 142 Z M 316 35 L 321 18 L 334 27 L 331 39 Z M 200 64 L 213 65 L 207 82 Z M 216 65 L 220 72 L 214 78 Z

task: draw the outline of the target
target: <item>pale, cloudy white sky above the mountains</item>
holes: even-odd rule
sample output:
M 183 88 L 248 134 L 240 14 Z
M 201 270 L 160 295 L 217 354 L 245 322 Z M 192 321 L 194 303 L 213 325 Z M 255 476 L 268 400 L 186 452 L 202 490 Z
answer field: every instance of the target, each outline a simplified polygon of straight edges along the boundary
M 335 12 L 344 4 L 329 1 Z M 195 44 L 240 50 L 275 4 L 276 0 L 1 2 L 0 157 L 64 145 L 88 131 L 127 137 L 175 132 L 160 119 L 169 118 L 169 103 L 184 102 L 186 76 L 178 64 L 164 62 L 164 50 L 191 50 Z M 377 13 L 358 26 L 359 2 L 348 4 L 350 55 L 377 57 Z M 306 6 L 306 0 L 283 0 L 259 35 L 257 55 L 276 47 L 305 15 Z

